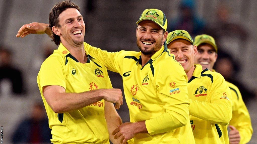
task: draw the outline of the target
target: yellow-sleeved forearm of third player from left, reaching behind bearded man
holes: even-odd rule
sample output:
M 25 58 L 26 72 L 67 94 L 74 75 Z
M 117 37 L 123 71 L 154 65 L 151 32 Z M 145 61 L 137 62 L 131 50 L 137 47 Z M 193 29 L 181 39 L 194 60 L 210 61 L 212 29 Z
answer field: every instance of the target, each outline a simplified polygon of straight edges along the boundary
M 189 114 L 214 124 L 227 125 L 232 117 L 232 105 L 223 102 L 208 103 L 191 100 Z

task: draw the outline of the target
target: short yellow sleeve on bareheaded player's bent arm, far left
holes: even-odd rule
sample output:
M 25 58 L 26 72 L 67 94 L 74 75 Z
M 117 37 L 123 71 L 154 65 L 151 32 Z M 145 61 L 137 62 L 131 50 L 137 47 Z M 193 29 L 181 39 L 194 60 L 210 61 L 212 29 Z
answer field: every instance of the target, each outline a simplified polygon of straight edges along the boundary
M 65 65 L 57 57 L 48 57 L 41 65 L 39 72 L 40 89 L 44 86 L 58 85 L 66 89 Z

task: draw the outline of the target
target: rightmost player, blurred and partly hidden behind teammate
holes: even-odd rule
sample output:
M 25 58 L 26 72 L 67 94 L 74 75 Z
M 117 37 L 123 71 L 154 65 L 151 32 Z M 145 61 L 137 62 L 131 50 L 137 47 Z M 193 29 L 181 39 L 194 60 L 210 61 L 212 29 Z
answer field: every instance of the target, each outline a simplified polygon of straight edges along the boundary
M 217 59 L 218 48 L 214 38 L 206 34 L 198 35 L 195 37 L 195 45 L 198 48 L 195 63 L 202 65 L 203 69 L 208 68 L 210 71 L 215 71 L 213 65 Z M 227 84 L 233 98 L 232 119 L 229 122 L 229 141 L 230 144 L 244 144 L 249 142 L 252 137 L 251 118 L 239 89 L 229 82 Z

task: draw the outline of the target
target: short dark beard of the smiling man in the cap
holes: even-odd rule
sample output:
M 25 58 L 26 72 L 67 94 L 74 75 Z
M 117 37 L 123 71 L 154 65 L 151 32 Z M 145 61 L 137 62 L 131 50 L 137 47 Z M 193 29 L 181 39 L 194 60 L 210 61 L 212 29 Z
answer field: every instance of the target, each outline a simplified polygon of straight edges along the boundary
M 162 40 L 163 40 L 163 37 L 160 41 L 156 42 L 155 41 L 155 45 L 152 47 L 152 48 L 142 48 L 140 46 L 140 40 L 136 40 L 136 45 L 137 47 L 140 49 L 141 53 L 144 54 L 144 55 L 153 55 L 154 53 L 156 53 L 159 49 L 161 49 L 162 47 Z M 147 40 L 145 40 L 147 41 Z

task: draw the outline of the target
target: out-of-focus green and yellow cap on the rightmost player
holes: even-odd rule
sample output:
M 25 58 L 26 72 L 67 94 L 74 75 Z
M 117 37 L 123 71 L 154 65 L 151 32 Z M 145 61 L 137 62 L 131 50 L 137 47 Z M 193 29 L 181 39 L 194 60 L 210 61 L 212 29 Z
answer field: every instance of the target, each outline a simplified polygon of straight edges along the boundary
M 200 44 L 210 44 L 211 46 L 214 47 L 216 53 L 218 52 L 217 45 L 215 43 L 215 40 L 212 36 L 203 34 L 203 35 L 198 35 L 195 37 L 195 45 L 199 46 Z

